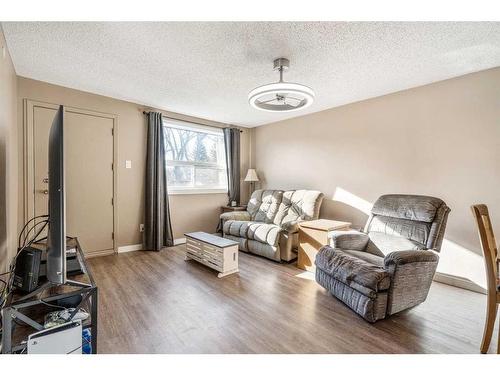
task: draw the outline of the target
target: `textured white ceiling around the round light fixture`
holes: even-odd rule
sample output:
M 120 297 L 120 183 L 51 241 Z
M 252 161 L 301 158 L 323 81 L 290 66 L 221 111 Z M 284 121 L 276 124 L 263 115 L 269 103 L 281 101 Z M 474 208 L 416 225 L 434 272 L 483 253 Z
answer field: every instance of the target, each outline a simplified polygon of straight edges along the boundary
M 152 107 L 258 126 L 500 66 L 500 23 L 2 23 L 17 74 Z M 248 105 L 277 80 L 316 92 L 304 111 Z

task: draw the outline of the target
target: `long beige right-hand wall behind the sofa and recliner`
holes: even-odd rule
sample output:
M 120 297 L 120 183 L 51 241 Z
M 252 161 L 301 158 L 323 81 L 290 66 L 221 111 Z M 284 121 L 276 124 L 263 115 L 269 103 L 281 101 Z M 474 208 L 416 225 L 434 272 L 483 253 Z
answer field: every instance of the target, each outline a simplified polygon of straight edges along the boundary
M 484 286 L 469 207 L 500 235 L 500 68 L 258 127 L 255 162 L 264 186 L 319 189 L 321 216 L 357 227 L 381 194 L 442 198 L 438 270 Z

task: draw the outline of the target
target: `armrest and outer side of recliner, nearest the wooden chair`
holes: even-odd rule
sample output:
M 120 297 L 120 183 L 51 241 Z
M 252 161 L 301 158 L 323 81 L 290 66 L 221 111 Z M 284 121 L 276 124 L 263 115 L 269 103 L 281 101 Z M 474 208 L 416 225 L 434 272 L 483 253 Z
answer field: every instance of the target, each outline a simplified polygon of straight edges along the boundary
M 438 255 L 431 250 L 403 250 L 386 255 L 384 268 L 391 275 L 388 315 L 426 300 L 438 261 Z

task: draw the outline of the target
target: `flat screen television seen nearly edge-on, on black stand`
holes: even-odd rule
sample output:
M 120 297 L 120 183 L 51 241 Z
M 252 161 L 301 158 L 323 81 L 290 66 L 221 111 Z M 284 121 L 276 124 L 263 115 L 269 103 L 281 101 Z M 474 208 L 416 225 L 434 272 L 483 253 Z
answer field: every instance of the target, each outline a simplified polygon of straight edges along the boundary
M 49 229 L 47 280 L 66 283 L 66 194 L 64 180 L 64 107 L 59 106 L 49 133 Z

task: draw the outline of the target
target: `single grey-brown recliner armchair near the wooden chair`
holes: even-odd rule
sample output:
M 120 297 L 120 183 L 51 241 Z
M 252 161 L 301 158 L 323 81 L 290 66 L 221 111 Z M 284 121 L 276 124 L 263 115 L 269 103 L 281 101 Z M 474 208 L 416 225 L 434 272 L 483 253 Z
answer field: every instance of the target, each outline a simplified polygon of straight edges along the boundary
M 316 281 L 369 322 L 427 298 L 450 209 L 438 198 L 384 195 L 364 233 L 332 232 Z

